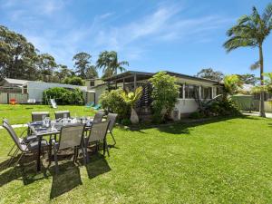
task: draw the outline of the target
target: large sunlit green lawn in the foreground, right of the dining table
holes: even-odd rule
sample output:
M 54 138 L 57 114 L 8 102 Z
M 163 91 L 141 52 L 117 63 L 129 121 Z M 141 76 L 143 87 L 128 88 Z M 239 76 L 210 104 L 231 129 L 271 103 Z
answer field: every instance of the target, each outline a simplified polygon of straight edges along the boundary
M 57 176 L 2 167 L 0 203 L 271 203 L 271 131 L 257 117 L 117 128 L 111 157 L 86 167 L 63 162 Z M 3 130 L 0 145 L 3 163 L 12 146 Z

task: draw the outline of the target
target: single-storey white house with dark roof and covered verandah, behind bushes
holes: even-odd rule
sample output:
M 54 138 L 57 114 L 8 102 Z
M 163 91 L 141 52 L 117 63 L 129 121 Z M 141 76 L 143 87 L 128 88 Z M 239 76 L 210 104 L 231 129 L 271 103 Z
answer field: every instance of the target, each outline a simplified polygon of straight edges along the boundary
M 189 76 L 181 73 L 166 73 L 176 77 L 177 83 L 180 85 L 180 97 L 174 109 L 174 111 L 177 112 L 178 119 L 198 110 L 198 105 L 194 98 L 194 92 L 196 92 L 196 90 L 199 92 L 200 99 L 212 99 L 221 93 L 222 84 L 217 81 Z M 154 74 L 155 73 L 129 71 L 104 79 L 104 83 L 92 87 L 92 90 L 95 92 L 95 102 L 99 102 L 99 98 L 102 92 L 106 90 L 117 89 L 121 87 L 127 91 L 132 91 L 136 87 L 142 86 L 143 94 L 141 101 L 139 102 L 139 106 L 147 107 L 151 103 L 151 84 L 148 80 Z

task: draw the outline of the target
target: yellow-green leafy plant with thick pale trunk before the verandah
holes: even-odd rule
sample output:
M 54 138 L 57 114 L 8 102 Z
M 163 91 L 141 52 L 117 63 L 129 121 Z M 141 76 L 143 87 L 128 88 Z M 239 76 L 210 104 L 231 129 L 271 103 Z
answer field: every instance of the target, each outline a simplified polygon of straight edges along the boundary
M 138 102 L 141 98 L 141 92 L 142 88 L 138 87 L 134 92 L 122 92 L 122 98 L 124 102 L 129 104 L 131 106 L 131 123 L 137 124 L 139 123 L 139 117 L 137 112 L 135 111 L 135 104 Z

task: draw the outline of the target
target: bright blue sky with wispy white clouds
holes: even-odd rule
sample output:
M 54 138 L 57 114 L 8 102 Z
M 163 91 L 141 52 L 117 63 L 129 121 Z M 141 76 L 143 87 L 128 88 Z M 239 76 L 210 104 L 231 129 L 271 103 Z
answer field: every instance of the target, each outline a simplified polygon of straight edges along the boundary
M 257 49 L 226 53 L 226 31 L 240 15 L 260 11 L 262 0 L 0 0 L 0 24 L 24 34 L 41 53 L 73 68 L 73 54 L 115 50 L 129 70 L 196 74 L 257 73 Z M 272 35 L 271 35 L 272 36 Z M 264 45 L 265 71 L 272 72 L 272 37 Z

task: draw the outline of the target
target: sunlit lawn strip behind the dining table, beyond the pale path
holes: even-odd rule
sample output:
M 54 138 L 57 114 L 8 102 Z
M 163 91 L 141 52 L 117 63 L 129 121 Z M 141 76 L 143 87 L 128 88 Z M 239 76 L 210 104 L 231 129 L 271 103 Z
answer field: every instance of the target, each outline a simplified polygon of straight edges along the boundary
M 54 117 L 55 111 L 70 111 L 74 116 L 93 115 L 94 111 L 85 106 L 59 105 L 57 109 L 51 108 L 49 105 L 9 105 L 0 104 L 0 119 L 7 118 L 12 124 L 23 124 L 31 121 L 31 112 L 50 112 L 51 118 Z

